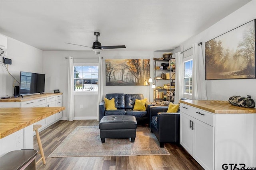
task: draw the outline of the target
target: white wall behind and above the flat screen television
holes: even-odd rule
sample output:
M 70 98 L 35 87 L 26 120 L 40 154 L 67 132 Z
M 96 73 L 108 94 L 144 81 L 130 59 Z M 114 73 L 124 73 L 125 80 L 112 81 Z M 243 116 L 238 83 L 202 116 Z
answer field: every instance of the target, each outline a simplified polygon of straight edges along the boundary
M 20 81 L 20 71 L 43 73 L 43 51 L 22 43 L 16 39 L 7 37 L 7 56 L 12 59 L 12 64 L 6 64 L 9 72 Z M 2 60 L 2 57 L 0 57 Z M 0 63 L 3 63 L 2 61 Z M 14 86 L 19 86 L 12 78 L 5 67 L 0 64 L 0 97 L 13 96 Z

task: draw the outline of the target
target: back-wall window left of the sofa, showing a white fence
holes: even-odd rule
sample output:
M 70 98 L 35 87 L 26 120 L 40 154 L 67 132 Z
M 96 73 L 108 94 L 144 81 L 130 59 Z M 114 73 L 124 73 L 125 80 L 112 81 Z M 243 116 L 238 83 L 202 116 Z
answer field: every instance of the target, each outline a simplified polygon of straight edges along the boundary
M 98 64 L 74 64 L 74 91 L 98 91 Z

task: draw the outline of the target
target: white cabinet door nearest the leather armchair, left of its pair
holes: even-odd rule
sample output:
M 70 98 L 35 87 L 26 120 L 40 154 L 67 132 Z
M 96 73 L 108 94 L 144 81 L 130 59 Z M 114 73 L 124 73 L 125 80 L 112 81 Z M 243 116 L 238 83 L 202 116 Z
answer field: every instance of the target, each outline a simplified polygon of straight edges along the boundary
M 180 145 L 191 155 L 193 154 L 193 130 L 190 128 L 192 120 L 191 116 L 180 112 Z

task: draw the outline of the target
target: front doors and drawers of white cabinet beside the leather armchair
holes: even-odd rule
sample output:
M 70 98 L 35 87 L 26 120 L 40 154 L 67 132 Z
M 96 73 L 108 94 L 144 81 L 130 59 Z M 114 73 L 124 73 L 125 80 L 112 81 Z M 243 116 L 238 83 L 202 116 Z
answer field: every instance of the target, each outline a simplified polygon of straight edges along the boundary
M 213 123 L 213 114 L 184 104 L 180 106 L 180 145 L 204 169 L 214 169 L 214 127 L 207 124 Z

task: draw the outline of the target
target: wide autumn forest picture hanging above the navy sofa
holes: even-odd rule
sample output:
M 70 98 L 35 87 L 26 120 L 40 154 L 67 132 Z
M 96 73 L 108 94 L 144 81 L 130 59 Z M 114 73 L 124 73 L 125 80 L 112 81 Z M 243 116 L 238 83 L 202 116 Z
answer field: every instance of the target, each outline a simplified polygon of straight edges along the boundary
M 106 86 L 144 86 L 150 77 L 149 59 L 106 59 Z

